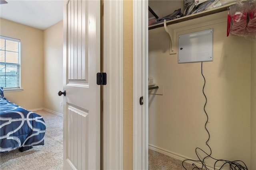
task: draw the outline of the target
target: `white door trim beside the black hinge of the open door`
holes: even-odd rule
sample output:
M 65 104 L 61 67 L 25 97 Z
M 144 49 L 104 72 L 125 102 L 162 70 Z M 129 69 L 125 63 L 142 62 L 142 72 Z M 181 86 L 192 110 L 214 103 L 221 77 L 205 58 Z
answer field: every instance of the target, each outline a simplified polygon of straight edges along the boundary
M 104 0 L 103 169 L 123 169 L 123 1 Z

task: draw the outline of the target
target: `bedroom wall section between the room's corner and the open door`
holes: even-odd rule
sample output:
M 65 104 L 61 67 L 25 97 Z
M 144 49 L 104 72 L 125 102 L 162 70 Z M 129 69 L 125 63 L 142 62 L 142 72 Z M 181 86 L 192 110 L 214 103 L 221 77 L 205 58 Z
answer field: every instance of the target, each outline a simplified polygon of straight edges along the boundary
M 63 21 L 44 30 L 44 108 L 62 114 Z

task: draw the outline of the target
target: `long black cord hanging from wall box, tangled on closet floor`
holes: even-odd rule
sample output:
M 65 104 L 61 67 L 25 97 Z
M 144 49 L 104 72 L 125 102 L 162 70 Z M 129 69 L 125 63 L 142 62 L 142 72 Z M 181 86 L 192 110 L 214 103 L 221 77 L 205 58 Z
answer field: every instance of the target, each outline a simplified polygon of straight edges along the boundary
M 203 78 L 204 78 L 204 74 L 203 74 L 203 62 L 201 63 L 201 74 L 202 74 L 202 76 L 203 76 Z M 205 78 L 204 78 L 204 86 L 205 86 Z M 207 120 L 206 120 L 206 123 L 205 123 L 205 125 L 204 125 L 204 128 L 205 128 L 206 132 L 208 133 L 208 139 L 207 139 L 207 141 L 206 141 L 206 145 L 207 145 L 208 148 L 210 149 L 210 154 L 206 153 L 204 150 L 202 150 L 202 149 L 200 149 L 200 148 L 197 147 L 197 148 L 196 148 L 196 156 L 198 157 L 198 160 L 192 160 L 192 159 L 183 160 L 183 162 L 182 162 L 183 168 L 186 169 L 186 167 L 184 166 L 184 162 L 186 162 L 186 161 L 193 161 L 193 162 L 200 162 L 202 165 L 201 165 L 200 167 L 198 167 L 196 164 L 193 163 L 192 165 L 194 166 L 194 168 L 193 168 L 192 170 L 202 170 L 203 168 L 205 168 L 206 170 L 210 170 L 209 168 L 207 168 L 206 163 L 204 162 L 204 160 L 205 160 L 206 158 L 212 158 L 212 159 L 216 160 L 216 162 L 214 163 L 214 170 L 216 170 L 216 164 L 217 164 L 218 162 L 222 162 L 222 163 L 223 163 L 222 166 L 221 166 L 220 168 L 218 168 L 219 170 L 221 170 L 226 164 L 229 164 L 230 170 L 248 170 L 246 164 L 245 164 L 242 160 L 229 161 L 229 160 L 223 160 L 223 159 L 215 159 L 215 158 L 213 158 L 213 157 L 211 156 L 211 154 L 212 154 L 212 149 L 211 149 L 210 146 L 208 145 L 208 142 L 209 142 L 209 140 L 210 140 L 210 133 L 209 133 L 209 131 L 208 131 L 207 128 L 206 128 L 206 125 L 207 125 L 207 123 L 208 123 L 208 114 L 206 113 L 206 110 L 205 110 L 205 106 L 206 106 L 206 103 L 207 103 L 207 98 L 206 98 L 206 95 L 205 95 L 205 93 L 204 93 L 204 86 L 203 86 L 203 94 L 204 94 L 204 97 L 205 97 L 205 99 L 206 99 L 206 102 L 205 102 L 205 104 L 204 104 L 204 113 L 206 114 L 206 117 L 207 117 Z M 202 152 L 204 152 L 204 153 L 206 154 L 206 156 L 205 156 L 203 159 L 200 158 L 200 156 L 199 156 L 199 154 L 198 154 L 198 150 L 200 150 L 200 151 L 202 151 Z M 240 164 L 239 162 L 240 162 L 241 164 Z M 186 169 L 186 170 L 187 170 L 187 169 Z

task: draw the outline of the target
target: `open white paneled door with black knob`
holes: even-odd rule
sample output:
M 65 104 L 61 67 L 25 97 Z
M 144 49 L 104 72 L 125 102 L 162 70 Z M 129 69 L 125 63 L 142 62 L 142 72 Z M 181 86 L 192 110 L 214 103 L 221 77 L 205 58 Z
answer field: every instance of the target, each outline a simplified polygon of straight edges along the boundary
M 100 0 L 64 2 L 63 168 L 100 169 Z M 57 64 L 57 63 L 56 63 Z

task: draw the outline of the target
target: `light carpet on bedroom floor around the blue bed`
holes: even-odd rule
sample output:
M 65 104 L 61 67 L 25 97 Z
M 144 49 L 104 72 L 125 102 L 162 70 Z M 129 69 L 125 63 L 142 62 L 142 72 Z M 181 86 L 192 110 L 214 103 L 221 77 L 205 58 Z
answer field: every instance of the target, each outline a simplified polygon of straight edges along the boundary
M 1 170 L 61 170 L 63 150 L 63 117 L 48 111 L 34 111 L 46 123 L 44 145 L 20 152 L 18 149 L 0 154 Z

